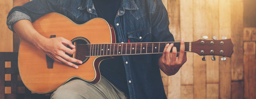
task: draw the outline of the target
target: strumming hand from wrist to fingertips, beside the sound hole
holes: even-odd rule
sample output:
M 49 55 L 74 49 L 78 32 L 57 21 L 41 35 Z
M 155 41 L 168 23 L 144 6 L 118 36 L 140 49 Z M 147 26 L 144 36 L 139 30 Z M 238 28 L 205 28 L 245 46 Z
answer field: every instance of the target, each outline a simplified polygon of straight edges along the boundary
M 65 45 L 69 45 L 72 48 L 69 49 Z M 68 66 L 78 68 L 74 63 L 82 64 L 81 60 L 71 58 L 66 53 L 73 55 L 76 52 L 75 45 L 71 41 L 63 37 L 45 38 L 37 45 L 39 49 L 45 52 L 50 58 L 57 62 L 67 64 Z M 73 63 L 72 63 L 73 62 Z

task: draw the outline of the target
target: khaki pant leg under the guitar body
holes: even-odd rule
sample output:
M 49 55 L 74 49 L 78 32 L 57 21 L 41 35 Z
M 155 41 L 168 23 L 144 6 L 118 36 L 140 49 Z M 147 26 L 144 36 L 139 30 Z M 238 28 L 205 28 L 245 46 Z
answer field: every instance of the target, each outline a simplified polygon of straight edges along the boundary
M 124 92 L 101 76 L 97 84 L 81 79 L 72 80 L 54 91 L 51 99 L 126 99 L 126 97 Z

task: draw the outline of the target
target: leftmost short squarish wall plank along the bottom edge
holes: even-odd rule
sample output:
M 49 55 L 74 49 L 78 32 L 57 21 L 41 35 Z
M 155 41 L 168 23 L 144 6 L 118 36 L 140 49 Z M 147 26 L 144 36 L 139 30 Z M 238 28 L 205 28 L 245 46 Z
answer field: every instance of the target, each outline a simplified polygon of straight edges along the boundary
M 181 85 L 180 99 L 193 99 L 193 85 Z

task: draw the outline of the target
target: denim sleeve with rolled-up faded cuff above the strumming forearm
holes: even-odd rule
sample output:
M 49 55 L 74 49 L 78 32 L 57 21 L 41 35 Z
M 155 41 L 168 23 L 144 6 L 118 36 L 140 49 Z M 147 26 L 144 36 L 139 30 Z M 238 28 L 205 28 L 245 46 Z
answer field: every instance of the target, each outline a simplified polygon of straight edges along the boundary
M 50 12 L 59 12 L 59 0 L 32 0 L 22 6 L 11 9 L 7 16 L 7 26 L 14 31 L 12 25 L 19 20 L 27 19 L 34 22 Z

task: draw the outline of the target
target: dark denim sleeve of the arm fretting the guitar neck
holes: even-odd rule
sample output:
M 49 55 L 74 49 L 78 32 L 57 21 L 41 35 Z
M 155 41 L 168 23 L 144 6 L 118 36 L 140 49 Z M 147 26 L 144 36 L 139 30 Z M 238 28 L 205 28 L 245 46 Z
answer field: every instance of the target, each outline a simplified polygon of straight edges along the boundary
M 174 41 L 172 33 L 169 31 L 169 18 L 165 6 L 161 0 L 156 1 L 155 12 L 151 16 L 151 32 L 153 42 Z M 153 55 L 153 63 L 158 64 L 158 59 L 162 54 Z

